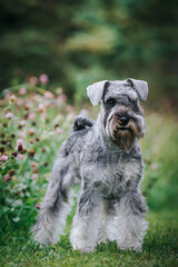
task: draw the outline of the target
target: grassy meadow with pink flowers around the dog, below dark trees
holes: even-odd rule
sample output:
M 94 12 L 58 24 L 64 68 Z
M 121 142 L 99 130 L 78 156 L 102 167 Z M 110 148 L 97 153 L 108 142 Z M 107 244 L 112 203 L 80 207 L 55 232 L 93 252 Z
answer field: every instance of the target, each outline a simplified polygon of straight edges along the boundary
M 23 96 L 18 90 L 13 91 L 16 97 L 6 92 L 0 100 L 0 266 L 178 266 L 176 118 L 171 113 L 146 113 L 142 191 L 150 208 L 150 227 L 142 253 L 118 250 L 116 243 L 101 244 L 95 253 L 73 251 L 69 231 L 75 210 L 61 240 L 40 248 L 31 240 L 29 229 L 36 221 L 58 148 L 79 109 L 69 106 L 60 90 L 55 96 L 38 87 Z M 96 109 L 89 110 L 96 118 Z M 7 118 L 9 112 L 11 118 Z

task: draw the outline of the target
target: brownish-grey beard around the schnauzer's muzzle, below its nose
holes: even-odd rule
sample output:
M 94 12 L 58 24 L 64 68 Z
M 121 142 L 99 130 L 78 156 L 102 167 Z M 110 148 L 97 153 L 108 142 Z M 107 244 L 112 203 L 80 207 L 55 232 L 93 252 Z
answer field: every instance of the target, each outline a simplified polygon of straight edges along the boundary
M 136 141 L 140 137 L 140 128 L 135 121 L 130 121 L 128 126 L 120 126 L 112 117 L 106 127 L 106 132 L 110 139 L 126 152 L 129 152 Z

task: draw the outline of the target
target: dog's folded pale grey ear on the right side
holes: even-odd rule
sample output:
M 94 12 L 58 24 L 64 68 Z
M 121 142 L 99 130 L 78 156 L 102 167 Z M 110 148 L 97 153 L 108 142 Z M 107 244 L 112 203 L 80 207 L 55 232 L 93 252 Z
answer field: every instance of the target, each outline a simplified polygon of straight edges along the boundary
M 128 78 L 127 81 L 131 83 L 131 86 L 136 90 L 138 97 L 142 101 L 146 101 L 147 100 L 147 96 L 148 96 L 148 83 L 147 83 L 147 81 L 135 80 L 135 79 L 131 79 L 131 78 Z

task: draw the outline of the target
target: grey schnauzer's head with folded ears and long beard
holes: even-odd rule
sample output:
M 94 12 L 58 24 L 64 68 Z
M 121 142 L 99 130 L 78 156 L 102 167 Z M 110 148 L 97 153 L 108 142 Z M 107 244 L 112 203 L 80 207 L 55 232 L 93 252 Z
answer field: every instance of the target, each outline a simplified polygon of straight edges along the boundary
M 129 152 L 146 134 L 146 121 L 139 99 L 147 100 L 148 85 L 142 80 L 99 81 L 87 88 L 93 106 L 102 101 L 103 129 L 108 138 Z

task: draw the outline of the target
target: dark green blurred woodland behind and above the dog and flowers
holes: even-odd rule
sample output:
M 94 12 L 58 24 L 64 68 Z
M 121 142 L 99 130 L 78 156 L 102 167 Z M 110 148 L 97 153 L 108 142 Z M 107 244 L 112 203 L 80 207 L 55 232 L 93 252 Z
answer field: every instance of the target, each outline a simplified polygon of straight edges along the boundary
M 0 90 L 47 73 L 83 101 L 102 79 L 147 80 L 149 107 L 178 100 L 177 0 L 1 0 Z

